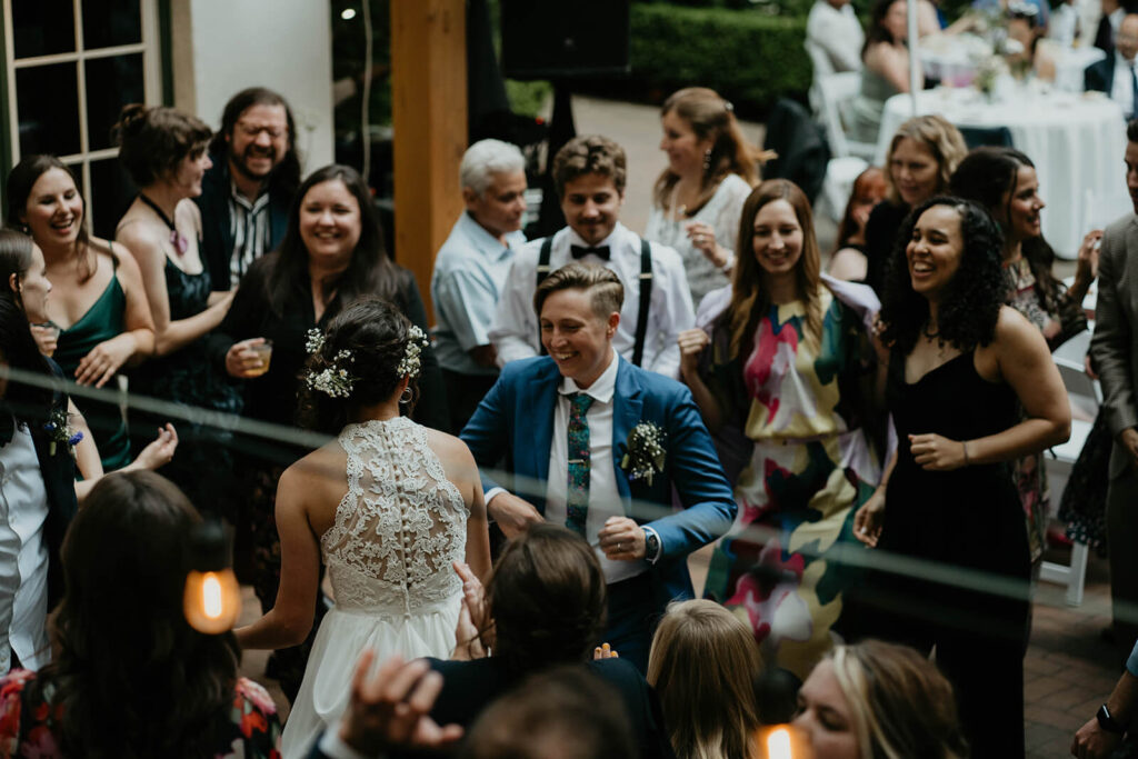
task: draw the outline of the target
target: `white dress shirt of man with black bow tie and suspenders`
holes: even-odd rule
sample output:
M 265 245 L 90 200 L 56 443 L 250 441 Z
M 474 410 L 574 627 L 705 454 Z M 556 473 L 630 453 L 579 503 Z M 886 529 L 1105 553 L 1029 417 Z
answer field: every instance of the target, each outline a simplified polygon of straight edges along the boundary
M 550 271 L 572 262 L 569 246 L 592 247 L 577 232 L 566 226 L 553 236 Z M 627 361 L 636 346 L 636 321 L 640 315 L 641 238 L 617 222 L 612 233 L 596 247 L 609 246 L 608 262 L 587 255 L 582 263 L 603 265 L 616 272 L 625 287 L 620 324 L 612 337 L 612 347 Z M 498 365 L 538 355 L 541 340 L 537 315 L 534 313 L 534 290 L 537 288 L 537 259 L 542 240 L 533 240 L 513 257 L 510 277 L 498 300 L 489 337 L 497 348 Z M 648 330 L 644 335 L 642 369 L 675 378 L 679 374 L 679 332 L 695 324 L 687 275 L 679 254 L 655 242 L 652 250 L 652 299 Z

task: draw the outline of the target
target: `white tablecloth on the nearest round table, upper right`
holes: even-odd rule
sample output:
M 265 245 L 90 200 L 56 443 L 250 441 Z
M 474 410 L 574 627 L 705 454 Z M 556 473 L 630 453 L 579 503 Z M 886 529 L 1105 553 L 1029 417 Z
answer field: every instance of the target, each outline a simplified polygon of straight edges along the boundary
M 1006 82 L 989 101 L 979 91 L 938 88 L 917 94 L 917 114 L 940 114 L 957 126 L 1006 126 L 1012 143 L 1036 164 L 1044 236 L 1064 258 L 1073 258 L 1097 208 L 1129 207 L 1123 154 L 1125 122 L 1100 93 L 1045 91 L 1036 83 Z M 883 166 L 897 127 L 913 116 L 908 94 L 885 102 L 875 162 Z

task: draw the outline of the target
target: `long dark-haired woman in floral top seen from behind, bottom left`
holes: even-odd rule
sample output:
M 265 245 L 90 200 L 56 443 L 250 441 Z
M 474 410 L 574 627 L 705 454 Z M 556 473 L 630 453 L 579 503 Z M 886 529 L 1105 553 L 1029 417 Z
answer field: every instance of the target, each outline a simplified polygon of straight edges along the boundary
M 0 756 L 279 756 L 277 708 L 237 676 L 232 634 L 183 617 L 185 536 L 199 521 L 154 472 L 99 481 L 64 543 L 58 659 L 0 683 Z

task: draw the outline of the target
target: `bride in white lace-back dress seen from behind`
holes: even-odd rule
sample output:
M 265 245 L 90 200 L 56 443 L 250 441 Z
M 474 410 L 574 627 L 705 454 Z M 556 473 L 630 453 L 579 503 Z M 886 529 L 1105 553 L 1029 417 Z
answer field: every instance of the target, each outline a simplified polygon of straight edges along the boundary
M 336 440 L 289 467 L 277 489 L 281 584 L 277 605 L 237 630 L 242 649 L 300 643 L 312 628 L 320 561 L 335 608 L 316 635 L 284 728 L 284 759 L 307 757 L 347 706 L 356 660 L 446 659 L 462 580 L 451 562 L 489 574 L 486 508 L 459 438 L 401 415 L 417 394 L 426 339 L 396 308 L 366 298 L 327 336 L 312 333 L 302 422 Z

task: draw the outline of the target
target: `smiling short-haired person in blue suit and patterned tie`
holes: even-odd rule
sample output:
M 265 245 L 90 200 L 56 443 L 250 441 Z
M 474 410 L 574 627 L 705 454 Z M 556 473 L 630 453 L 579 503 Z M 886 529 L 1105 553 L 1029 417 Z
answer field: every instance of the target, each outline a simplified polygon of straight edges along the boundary
M 534 295 L 549 355 L 508 364 L 461 437 L 506 537 L 549 520 L 594 547 L 605 640 L 644 671 L 652 622 L 693 596 L 687 554 L 726 533 L 736 506 L 688 389 L 612 349 L 622 302 L 607 269 L 550 274 Z M 503 457 L 516 493 L 486 476 Z

